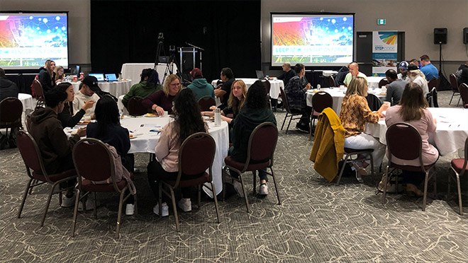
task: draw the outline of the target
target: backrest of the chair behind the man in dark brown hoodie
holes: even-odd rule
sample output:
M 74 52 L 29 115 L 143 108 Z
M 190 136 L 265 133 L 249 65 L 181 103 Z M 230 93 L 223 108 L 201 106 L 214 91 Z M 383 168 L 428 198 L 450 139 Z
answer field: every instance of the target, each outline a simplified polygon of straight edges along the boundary
M 40 155 L 38 144 L 35 143 L 33 136 L 28 134 L 26 131 L 18 131 L 18 134 L 16 134 L 16 145 L 18 146 L 28 173 L 29 169 L 32 169 L 33 171 L 42 173 L 47 177 L 43 158 Z

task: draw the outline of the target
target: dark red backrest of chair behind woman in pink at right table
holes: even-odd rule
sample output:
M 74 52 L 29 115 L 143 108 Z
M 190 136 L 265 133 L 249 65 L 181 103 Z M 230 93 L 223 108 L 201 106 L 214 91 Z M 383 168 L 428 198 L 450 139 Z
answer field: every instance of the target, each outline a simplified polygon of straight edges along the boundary
M 386 130 L 386 146 L 389 148 L 389 163 L 391 156 L 402 160 L 419 158 L 421 169 L 424 170 L 423 156 L 421 154 L 423 141 L 418 130 L 411 124 L 399 122 L 391 124 Z

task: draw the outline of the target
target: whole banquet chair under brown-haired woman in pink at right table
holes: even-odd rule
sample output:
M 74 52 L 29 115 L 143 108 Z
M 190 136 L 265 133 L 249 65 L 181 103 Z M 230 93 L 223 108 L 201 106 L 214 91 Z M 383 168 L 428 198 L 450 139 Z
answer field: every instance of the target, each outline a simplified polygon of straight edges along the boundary
M 428 195 L 428 182 L 429 180 L 434 177 L 434 192 L 437 192 L 437 185 L 436 185 L 436 173 L 434 169 L 434 173 L 429 176 L 430 170 L 435 166 L 435 163 L 431 165 L 424 165 L 423 164 L 423 142 L 421 140 L 421 136 L 418 130 L 413 127 L 411 124 L 407 124 L 404 122 L 399 122 L 396 124 L 392 124 L 386 130 L 386 145 L 388 149 L 388 156 L 389 156 L 389 163 L 386 166 L 386 170 L 384 173 L 384 177 L 382 181 L 384 182 L 384 193 L 382 194 L 382 204 L 385 204 L 385 197 L 386 197 L 386 187 L 387 182 L 389 181 L 389 170 L 390 168 L 400 169 L 400 170 L 410 170 L 414 172 L 423 172 L 425 173 L 425 180 L 424 180 L 424 193 L 423 193 L 423 211 L 425 211 L 425 203 L 426 197 Z M 413 165 L 398 165 L 391 161 L 391 157 L 395 156 L 401 160 L 415 160 L 418 159 L 420 165 L 413 166 Z

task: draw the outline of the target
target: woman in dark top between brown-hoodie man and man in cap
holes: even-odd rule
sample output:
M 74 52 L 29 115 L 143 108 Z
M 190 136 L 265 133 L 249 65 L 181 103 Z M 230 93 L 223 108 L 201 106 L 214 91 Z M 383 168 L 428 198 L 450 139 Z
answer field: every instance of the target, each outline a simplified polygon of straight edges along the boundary
M 57 115 L 57 118 L 62 122 L 62 127 L 74 127 L 78 124 L 79 120 L 82 119 L 88 109 L 91 109 L 94 105 L 94 100 L 88 100 L 84 103 L 83 107 L 73 115 L 73 100 L 74 90 L 72 83 L 62 82 L 57 85 L 58 90 L 65 91 L 67 93 L 67 102 L 63 107 L 62 112 Z

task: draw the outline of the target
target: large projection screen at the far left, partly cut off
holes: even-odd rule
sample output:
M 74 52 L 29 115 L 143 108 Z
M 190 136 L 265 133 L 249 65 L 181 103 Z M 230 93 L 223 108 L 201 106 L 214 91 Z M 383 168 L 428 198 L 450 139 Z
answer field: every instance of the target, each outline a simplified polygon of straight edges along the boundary
M 0 67 L 38 69 L 47 59 L 68 68 L 68 16 L 0 12 Z

